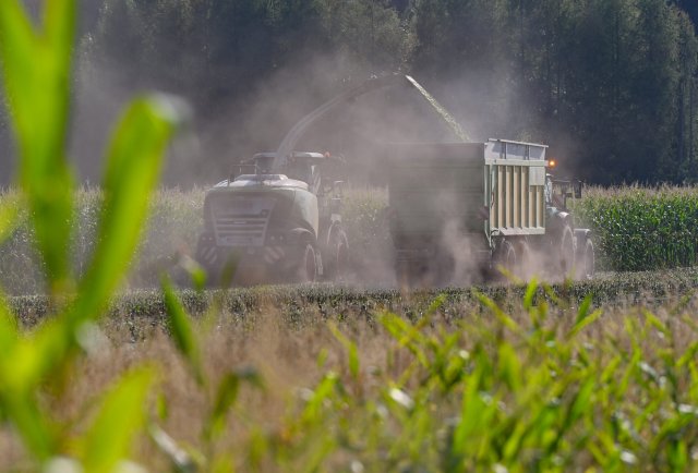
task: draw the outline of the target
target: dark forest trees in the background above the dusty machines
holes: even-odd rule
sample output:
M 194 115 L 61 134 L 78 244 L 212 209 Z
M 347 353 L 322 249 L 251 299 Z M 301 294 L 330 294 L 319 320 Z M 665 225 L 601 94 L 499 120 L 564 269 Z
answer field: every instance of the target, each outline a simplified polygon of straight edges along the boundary
M 251 129 L 240 153 L 349 84 L 402 72 L 471 136 L 546 143 L 590 182 L 696 182 L 697 16 L 689 0 L 99 0 L 83 9 L 79 68 L 185 97 L 200 130 L 225 117 L 228 142 L 198 157 L 218 171 Z M 301 96 L 306 108 L 270 117 Z

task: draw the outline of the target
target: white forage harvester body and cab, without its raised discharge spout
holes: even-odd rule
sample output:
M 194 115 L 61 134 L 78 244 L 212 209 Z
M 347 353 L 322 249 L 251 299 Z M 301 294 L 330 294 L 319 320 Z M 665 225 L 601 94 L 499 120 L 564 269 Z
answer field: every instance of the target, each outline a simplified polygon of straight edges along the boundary
M 344 275 L 342 159 L 327 153 L 274 153 L 243 160 L 208 191 L 197 260 L 214 283 L 311 282 Z

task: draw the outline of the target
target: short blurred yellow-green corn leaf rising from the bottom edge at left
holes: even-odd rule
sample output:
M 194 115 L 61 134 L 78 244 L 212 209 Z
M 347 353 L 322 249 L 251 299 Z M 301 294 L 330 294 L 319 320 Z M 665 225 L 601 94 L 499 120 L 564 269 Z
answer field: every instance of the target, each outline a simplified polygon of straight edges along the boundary
M 129 457 L 134 436 L 146 420 L 146 400 L 154 373 L 139 368 L 123 376 L 107 393 L 85 436 L 85 473 L 111 472 Z

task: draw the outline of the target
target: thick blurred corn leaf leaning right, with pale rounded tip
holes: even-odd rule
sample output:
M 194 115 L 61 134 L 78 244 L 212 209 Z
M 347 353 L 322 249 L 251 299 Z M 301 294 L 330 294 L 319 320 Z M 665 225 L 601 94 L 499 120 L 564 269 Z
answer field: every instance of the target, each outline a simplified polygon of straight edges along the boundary
M 96 317 L 128 269 L 177 122 L 171 101 L 148 97 L 134 101 L 117 128 L 104 180 L 98 242 L 80 284 L 74 318 Z

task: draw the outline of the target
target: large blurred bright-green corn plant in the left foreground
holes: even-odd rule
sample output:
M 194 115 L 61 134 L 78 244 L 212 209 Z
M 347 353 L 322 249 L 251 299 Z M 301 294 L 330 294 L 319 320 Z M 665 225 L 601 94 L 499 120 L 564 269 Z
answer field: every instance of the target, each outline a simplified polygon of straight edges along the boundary
M 118 288 L 136 246 L 161 156 L 178 122 L 163 97 L 136 99 L 116 128 L 106 154 L 104 203 L 95 250 L 82 278 L 73 277 L 69 239 L 74 178 L 65 156 L 70 108 L 74 0 L 47 0 L 34 26 L 17 0 L 0 3 L 0 54 L 20 159 L 20 194 L 3 201 L 7 237 L 26 202 L 36 253 L 56 314 L 23 332 L 0 300 L 0 419 L 13 426 L 33 466 L 128 471 L 135 433 L 145 425 L 154 375 L 137 367 L 113 383 L 84 435 L 75 435 L 46 402 L 60 397 L 71 367 L 91 350 L 95 322 Z M 62 466 L 61 466 L 62 465 Z

